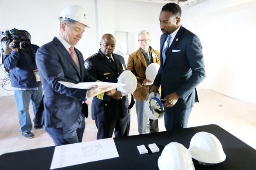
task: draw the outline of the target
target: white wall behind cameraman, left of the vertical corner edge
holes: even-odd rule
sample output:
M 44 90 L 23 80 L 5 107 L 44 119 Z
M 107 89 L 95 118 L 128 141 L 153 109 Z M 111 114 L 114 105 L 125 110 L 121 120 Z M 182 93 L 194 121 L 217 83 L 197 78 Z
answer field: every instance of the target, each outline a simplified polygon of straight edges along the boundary
M 64 7 L 70 5 L 82 6 L 90 19 L 91 28 L 86 28 L 83 38 L 76 46 L 87 58 L 97 49 L 94 0 L 12 0 L 11 4 L 1 0 L 0 31 L 14 27 L 25 29 L 32 35 L 33 44 L 44 45 L 58 35 L 58 15 Z M 5 73 L 0 70 L 0 79 L 4 76 Z M 10 85 L 5 88 L 12 89 Z M 13 95 L 13 91 L 5 91 L 0 87 L 0 96 L 8 95 Z

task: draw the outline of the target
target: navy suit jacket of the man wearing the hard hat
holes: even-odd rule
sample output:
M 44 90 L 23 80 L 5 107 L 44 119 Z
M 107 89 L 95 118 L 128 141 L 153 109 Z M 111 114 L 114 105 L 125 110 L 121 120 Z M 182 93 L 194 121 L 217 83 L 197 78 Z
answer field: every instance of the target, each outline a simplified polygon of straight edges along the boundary
M 87 90 L 67 88 L 58 81 L 64 82 L 95 82 L 96 79 L 87 74 L 84 59 L 75 48 L 80 70 L 67 49 L 54 37 L 53 40 L 38 49 L 36 64 L 44 87 L 43 112 L 38 114 L 45 127 L 67 128 L 73 126 L 81 115 L 88 115 L 86 100 Z M 84 121 L 84 120 L 83 120 Z M 81 142 L 81 141 L 79 141 Z M 64 142 L 61 144 L 66 144 Z M 55 143 L 56 144 L 56 143 Z

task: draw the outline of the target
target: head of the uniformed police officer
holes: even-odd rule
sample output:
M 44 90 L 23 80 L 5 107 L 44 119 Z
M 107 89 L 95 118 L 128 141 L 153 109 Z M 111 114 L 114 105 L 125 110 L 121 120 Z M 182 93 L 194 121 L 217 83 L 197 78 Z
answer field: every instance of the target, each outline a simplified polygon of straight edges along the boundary
M 108 57 L 111 57 L 116 47 L 115 37 L 112 34 L 104 34 L 99 44 L 100 44 L 100 50 L 102 51 L 102 53 Z

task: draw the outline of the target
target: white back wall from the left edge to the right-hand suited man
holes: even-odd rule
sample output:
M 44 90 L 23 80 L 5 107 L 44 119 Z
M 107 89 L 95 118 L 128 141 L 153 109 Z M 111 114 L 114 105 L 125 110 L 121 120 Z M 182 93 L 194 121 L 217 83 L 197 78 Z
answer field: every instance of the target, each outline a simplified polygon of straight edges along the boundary
M 95 6 L 97 2 L 97 6 Z M 90 28 L 86 28 L 78 48 L 84 58 L 90 57 L 99 50 L 99 41 L 103 34 L 113 34 L 114 31 L 129 32 L 129 52 L 139 48 L 137 34 L 146 29 L 153 39 L 152 47 L 159 49 L 161 31 L 158 24 L 158 15 L 163 4 L 143 3 L 129 0 L 13 0 L 12 9 L 21 9 L 21 12 L 10 10 L 9 2 L 1 2 L 0 31 L 19 28 L 29 31 L 32 43 L 39 46 L 52 40 L 59 31 L 58 15 L 62 8 L 69 5 L 79 5 L 88 12 Z M 125 8 L 124 8 L 125 6 Z M 157 8 L 156 8 L 157 7 Z M 97 11 L 95 10 L 98 10 Z M 98 28 L 96 26 L 99 26 Z M 127 61 L 128 56 L 124 56 Z M 0 70 L 0 79 L 5 73 Z M 12 89 L 10 84 L 6 89 Z M 0 96 L 13 95 L 13 91 L 0 88 Z

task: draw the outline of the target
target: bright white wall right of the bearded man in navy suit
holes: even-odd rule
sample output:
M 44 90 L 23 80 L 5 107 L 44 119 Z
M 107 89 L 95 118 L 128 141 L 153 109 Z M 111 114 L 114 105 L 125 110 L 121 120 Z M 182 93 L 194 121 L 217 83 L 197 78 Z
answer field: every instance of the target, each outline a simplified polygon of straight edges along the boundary
M 182 24 L 200 38 L 208 88 L 256 104 L 256 0 L 204 0 L 183 8 Z

